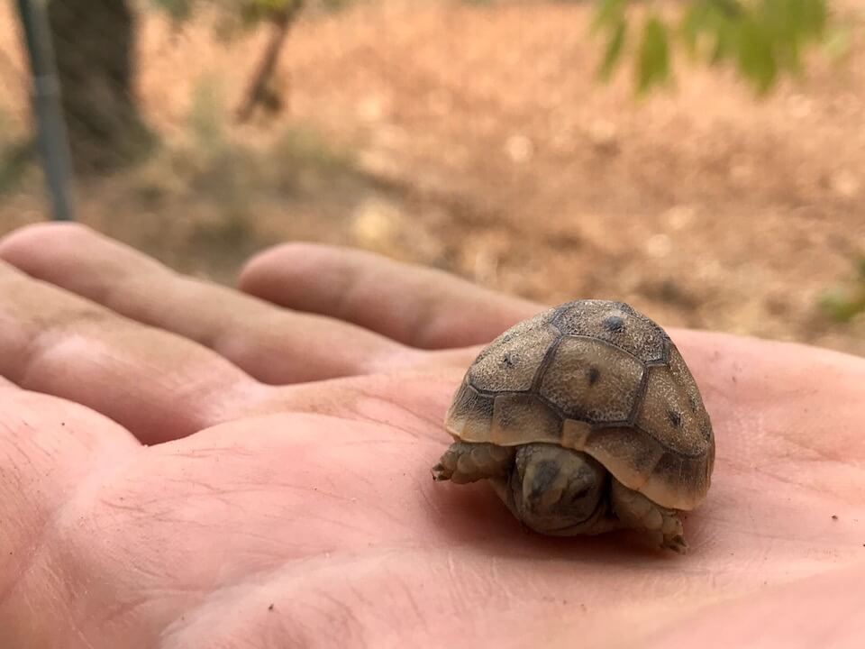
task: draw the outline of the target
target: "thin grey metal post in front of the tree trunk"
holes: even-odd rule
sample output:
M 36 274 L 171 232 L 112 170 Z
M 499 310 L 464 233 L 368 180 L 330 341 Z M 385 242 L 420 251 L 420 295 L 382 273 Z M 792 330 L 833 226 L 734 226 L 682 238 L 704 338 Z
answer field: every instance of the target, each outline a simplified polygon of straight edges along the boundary
M 44 3 L 45 0 L 18 0 L 17 4 L 30 59 L 32 107 L 52 213 L 57 221 L 69 221 L 72 219 L 72 169 Z

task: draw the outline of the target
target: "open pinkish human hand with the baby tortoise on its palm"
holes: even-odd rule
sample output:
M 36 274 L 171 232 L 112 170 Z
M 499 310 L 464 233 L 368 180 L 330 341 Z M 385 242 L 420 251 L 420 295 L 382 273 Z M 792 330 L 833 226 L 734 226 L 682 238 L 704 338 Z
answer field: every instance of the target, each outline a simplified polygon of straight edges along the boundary
M 4 649 L 865 637 L 863 360 L 669 331 L 717 435 L 682 557 L 430 478 L 479 345 L 541 305 L 301 244 L 247 295 L 77 226 L 0 259 Z

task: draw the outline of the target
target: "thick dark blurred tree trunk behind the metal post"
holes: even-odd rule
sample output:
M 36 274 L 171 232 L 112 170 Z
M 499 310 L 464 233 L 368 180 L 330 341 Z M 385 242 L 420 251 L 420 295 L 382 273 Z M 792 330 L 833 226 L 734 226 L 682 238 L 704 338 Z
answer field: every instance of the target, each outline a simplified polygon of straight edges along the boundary
M 77 175 L 141 160 L 154 136 L 132 94 L 130 0 L 50 0 L 48 19 Z

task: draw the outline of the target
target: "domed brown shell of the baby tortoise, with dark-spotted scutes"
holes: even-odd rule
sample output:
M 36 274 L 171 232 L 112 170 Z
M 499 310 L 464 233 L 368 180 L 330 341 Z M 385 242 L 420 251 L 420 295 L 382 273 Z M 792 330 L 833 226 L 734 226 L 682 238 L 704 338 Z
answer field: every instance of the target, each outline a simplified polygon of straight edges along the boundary
M 457 440 L 559 443 L 662 507 L 706 497 L 715 435 L 669 336 L 622 302 L 578 300 L 516 324 L 466 372 L 445 418 Z

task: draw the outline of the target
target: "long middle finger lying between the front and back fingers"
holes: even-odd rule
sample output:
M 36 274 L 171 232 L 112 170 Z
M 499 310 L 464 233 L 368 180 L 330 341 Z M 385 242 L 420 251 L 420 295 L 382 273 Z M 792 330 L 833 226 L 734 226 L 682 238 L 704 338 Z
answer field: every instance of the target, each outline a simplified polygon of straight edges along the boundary
M 359 326 L 292 313 L 179 275 L 77 224 L 16 231 L 0 241 L 0 259 L 118 314 L 201 343 L 265 382 L 360 374 L 412 354 Z

